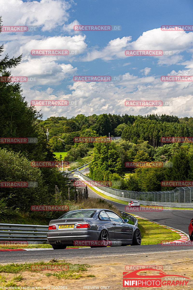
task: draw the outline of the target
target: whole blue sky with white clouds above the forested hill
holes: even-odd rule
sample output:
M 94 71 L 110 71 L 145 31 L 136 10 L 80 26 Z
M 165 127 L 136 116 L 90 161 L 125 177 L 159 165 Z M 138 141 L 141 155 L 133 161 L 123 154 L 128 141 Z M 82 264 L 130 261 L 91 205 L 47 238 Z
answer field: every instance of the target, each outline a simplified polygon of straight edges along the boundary
M 13 76 L 31 100 L 78 101 L 76 106 L 39 106 L 44 119 L 77 114 L 150 113 L 193 116 L 192 82 L 161 82 L 161 75 L 193 75 L 193 32 L 161 31 L 161 25 L 193 25 L 193 3 L 185 1 L 1 1 L 3 25 L 37 27 L 2 32 L 10 57 L 23 54 Z M 120 25 L 121 31 L 75 32 L 74 25 Z M 77 56 L 32 56 L 32 49 L 78 49 Z M 124 55 L 127 49 L 171 50 L 172 56 Z M 74 82 L 74 75 L 118 75 L 116 82 Z M 168 107 L 125 107 L 125 100 L 162 100 Z

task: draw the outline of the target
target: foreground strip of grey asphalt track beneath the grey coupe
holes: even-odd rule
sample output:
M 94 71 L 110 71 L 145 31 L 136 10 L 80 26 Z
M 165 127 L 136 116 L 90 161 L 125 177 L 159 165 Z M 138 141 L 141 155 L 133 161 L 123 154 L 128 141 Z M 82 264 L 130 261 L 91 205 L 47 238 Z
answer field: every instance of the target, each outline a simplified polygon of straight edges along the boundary
M 193 251 L 192 246 L 162 246 L 143 245 L 143 246 L 126 246 L 126 247 L 107 247 L 107 248 L 81 248 L 81 249 L 65 249 L 65 250 L 34 250 L 34 251 L 18 251 L 18 252 L 1 252 L 0 263 L 22 263 L 22 262 L 37 262 L 50 261 L 51 259 L 77 259 L 80 258 L 103 258 L 103 257 L 125 257 L 135 258 L 139 254 L 150 253 L 167 253 L 190 251 L 190 256 Z M 132 258 L 132 260 L 133 260 Z

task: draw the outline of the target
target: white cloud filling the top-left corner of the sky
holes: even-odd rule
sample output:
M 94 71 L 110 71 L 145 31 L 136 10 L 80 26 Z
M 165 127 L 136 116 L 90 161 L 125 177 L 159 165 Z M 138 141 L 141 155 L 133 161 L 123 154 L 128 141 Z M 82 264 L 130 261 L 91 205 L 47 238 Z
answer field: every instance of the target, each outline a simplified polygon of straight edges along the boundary
M 4 25 L 31 25 L 52 31 L 68 21 L 72 4 L 73 1 L 64 0 L 1 0 L 1 15 Z

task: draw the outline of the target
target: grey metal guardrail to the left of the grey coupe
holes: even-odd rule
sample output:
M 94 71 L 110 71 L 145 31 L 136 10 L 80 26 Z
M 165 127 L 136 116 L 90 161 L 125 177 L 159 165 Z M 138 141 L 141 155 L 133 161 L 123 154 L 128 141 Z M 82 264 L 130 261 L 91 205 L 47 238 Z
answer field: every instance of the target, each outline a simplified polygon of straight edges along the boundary
M 33 224 L 0 224 L 0 241 L 27 241 L 31 244 L 47 242 L 48 226 Z

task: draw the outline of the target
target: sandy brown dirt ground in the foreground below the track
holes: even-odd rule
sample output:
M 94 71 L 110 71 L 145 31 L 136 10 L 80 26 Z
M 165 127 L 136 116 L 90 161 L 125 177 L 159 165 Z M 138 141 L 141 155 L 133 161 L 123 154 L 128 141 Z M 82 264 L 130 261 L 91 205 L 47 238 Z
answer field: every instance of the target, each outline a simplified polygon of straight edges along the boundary
M 192 251 L 170 252 L 170 253 L 152 253 L 152 254 L 139 254 L 127 255 L 125 257 L 104 257 L 104 258 L 83 258 L 83 259 L 68 259 L 67 262 L 73 264 L 89 264 L 93 267 L 87 271 L 74 273 L 74 277 L 70 279 L 58 279 L 53 276 L 46 276 L 46 273 L 53 273 L 53 271 L 41 271 L 40 273 L 32 273 L 30 271 L 20 272 L 16 274 L 1 273 L 5 279 L 12 280 L 15 276 L 21 274 L 22 280 L 16 282 L 17 286 L 40 286 L 41 289 L 57 289 L 56 286 L 67 286 L 67 289 L 113 289 L 120 290 L 123 287 L 123 272 L 127 272 L 126 265 L 156 265 L 163 266 L 161 271 L 168 275 L 181 275 L 190 278 L 187 286 L 163 286 L 161 289 L 193 289 L 193 259 L 191 258 Z M 175 261 L 175 262 L 174 262 Z M 135 269 L 134 269 L 135 270 Z M 133 271 L 134 271 L 133 270 Z M 130 271 L 131 272 L 131 271 Z M 143 274 L 149 274 L 148 271 Z M 151 272 L 152 274 L 152 272 Z M 173 276 L 175 279 L 175 276 Z M 162 278 L 162 281 L 165 278 Z M 44 288 L 43 288 L 44 286 Z M 95 286 L 95 287 L 94 287 Z M 50 287 L 50 288 L 49 288 Z M 55 288 L 54 288 L 55 287 Z M 86 288 L 87 287 L 87 288 Z M 98 288 L 99 287 L 99 288 Z M 136 289 L 135 287 L 129 287 Z M 137 287 L 139 290 L 147 290 L 149 287 Z M 154 289 L 154 288 L 152 288 Z

